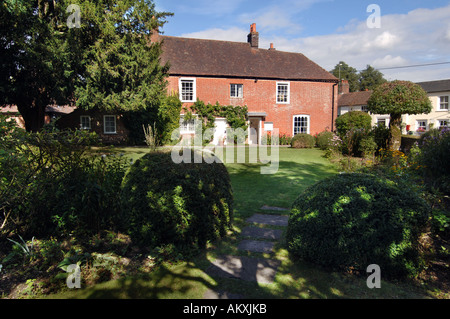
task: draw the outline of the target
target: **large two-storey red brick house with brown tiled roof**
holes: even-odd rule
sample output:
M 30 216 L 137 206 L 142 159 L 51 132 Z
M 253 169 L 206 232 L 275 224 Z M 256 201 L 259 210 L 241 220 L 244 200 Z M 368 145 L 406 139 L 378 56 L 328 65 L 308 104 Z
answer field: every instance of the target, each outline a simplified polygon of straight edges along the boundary
M 178 92 L 185 107 L 205 103 L 248 107 L 249 143 L 264 130 L 280 134 L 315 134 L 334 129 L 338 79 L 301 53 L 259 48 L 252 24 L 246 42 L 155 35 L 163 41 L 161 62 L 169 62 L 169 92 Z M 216 121 L 224 128 L 224 120 Z M 182 123 L 181 133 L 192 133 Z

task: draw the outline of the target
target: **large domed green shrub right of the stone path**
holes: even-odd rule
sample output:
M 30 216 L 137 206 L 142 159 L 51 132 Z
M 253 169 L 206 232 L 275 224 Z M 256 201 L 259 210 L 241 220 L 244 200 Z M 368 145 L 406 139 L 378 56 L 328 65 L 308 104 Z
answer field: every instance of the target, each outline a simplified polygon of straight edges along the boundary
M 429 207 L 413 191 L 369 174 L 339 174 L 306 189 L 293 203 L 290 253 L 338 271 L 414 277 L 423 267 L 418 239 Z

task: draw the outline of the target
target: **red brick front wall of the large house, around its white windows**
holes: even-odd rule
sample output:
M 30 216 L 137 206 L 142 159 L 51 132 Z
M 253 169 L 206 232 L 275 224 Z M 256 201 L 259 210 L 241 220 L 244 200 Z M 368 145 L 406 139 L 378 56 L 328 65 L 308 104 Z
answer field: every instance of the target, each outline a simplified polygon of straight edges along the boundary
M 169 92 L 178 92 L 179 76 L 169 77 Z M 276 102 L 276 83 L 290 83 L 288 104 Z M 230 97 L 230 84 L 243 84 L 243 98 Z M 334 87 L 334 114 L 332 112 L 333 83 L 275 81 L 230 78 L 196 78 L 196 97 L 205 103 L 247 105 L 249 112 L 265 112 L 266 122 L 273 122 L 280 134 L 293 135 L 293 116 L 310 116 L 310 134 L 331 130 L 337 116 L 337 86 Z M 190 106 L 192 103 L 184 103 Z M 334 119 L 332 118 L 334 116 Z M 333 125 L 334 126 L 334 125 Z

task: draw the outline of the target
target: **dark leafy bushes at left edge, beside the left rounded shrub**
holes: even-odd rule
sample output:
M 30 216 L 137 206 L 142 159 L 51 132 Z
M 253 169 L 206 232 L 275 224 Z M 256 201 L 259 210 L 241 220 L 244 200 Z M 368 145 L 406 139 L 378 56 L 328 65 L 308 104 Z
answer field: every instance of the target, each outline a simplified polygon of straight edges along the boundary
M 85 131 L 14 133 L 0 140 L 1 235 L 95 233 L 120 225 L 121 158 L 89 153 Z

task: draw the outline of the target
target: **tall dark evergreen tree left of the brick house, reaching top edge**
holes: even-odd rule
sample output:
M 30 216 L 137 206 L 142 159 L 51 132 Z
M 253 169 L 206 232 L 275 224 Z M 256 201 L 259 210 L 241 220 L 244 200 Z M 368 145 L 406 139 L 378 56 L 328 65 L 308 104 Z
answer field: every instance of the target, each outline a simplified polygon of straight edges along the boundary
M 80 9 L 79 27 L 68 23 Z M 52 103 L 84 109 L 148 110 L 167 66 L 150 36 L 166 23 L 151 0 L 6 0 L 0 6 L 0 104 L 16 104 L 38 131 Z M 157 112 L 157 111 L 155 111 Z

